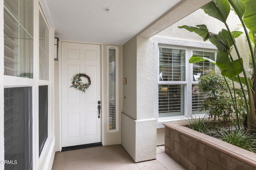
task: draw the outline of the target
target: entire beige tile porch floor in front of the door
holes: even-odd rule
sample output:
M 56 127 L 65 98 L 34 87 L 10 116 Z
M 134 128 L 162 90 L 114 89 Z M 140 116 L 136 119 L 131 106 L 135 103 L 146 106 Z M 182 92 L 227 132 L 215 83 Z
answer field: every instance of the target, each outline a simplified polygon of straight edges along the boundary
M 185 170 L 156 147 L 156 160 L 134 163 L 122 145 L 56 152 L 52 170 Z

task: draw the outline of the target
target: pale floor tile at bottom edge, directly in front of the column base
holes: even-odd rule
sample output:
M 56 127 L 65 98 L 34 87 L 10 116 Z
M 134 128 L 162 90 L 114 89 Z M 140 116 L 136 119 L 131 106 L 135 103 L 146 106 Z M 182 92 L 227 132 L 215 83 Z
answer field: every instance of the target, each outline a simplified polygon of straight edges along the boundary
M 158 160 L 149 160 L 137 163 L 140 170 L 166 170 L 166 168 L 158 162 Z

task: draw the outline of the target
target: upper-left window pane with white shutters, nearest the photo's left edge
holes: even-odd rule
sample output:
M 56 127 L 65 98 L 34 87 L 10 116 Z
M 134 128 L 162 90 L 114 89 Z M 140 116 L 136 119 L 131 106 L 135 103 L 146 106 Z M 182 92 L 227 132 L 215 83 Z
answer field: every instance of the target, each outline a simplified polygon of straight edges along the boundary
M 33 78 L 33 0 L 4 0 L 4 75 Z

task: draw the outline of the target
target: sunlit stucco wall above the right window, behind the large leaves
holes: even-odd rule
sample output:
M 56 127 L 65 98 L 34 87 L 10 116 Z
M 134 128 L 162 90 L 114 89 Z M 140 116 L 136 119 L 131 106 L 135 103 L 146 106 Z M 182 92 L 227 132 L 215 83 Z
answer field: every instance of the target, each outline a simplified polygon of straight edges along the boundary
M 234 31 L 241 26 L 238 25 L 240 24 L 239 18 L 234 14 L 233 11 L 230 11 L 230 15 L 228 16 L 227 19 L 227 24 L 230 28 L 231 31 Z M 218 34 L 219 31 L 222 30 L 222 28 L 226 29 L 226 26 L 224 23 L 220 22 L 219 20 L 212 18 L 208 16 L 207 14 L 204 13 L 204 10 L 198 9 L 192 14 L 186 16 L 185 18 L 179 20 L 172 26 L 169 26 L 162 32 L 159 32 L 156 34 L 156 36 L 159 37 L 164 37 L 164 38 L 172 38 L 172 39 L 178 39 L 178 40 L 190 40 L 194 42 L 204 42 L 198 34 L 194 32 L 189 32 L 188 30 L 185 29 L 180 29 L 178 26 L 196 26 L 196 25 L 201 25 L 205 24 L 209 30 L 209 32 L 213 32 L 215 34 Z M 249 48 L 248 48 L 248 43 L 245 40 L 245 35 L 241 35 L 239 38 L 236 39 L 236 42 L 238 43 L 238 47 L 240 49 L 240 53 L 243 54 L 249 54 Z M 208 43 L 208 41 L 206 41 Z M 234 52 L 234 50 L 233 50 Z M 233 53 L 234 54 L 234 53 Z M 248 57 L 243 57 L 245 65 L 249 64 Z

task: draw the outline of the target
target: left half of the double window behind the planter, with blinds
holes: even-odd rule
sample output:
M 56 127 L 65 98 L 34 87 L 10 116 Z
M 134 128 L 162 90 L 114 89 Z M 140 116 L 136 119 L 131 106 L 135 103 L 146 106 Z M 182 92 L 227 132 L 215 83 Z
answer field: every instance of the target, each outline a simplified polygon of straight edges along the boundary
M 159 48 L 158 117 L 184 115 L 184 49 Z

